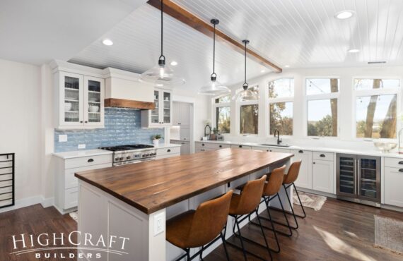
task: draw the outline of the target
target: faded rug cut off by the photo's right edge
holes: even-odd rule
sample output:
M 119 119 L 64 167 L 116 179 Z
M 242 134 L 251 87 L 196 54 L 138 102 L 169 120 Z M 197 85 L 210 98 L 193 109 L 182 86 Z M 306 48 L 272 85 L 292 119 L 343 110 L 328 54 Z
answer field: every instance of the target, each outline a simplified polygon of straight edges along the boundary
M 403 221 L 375 217 L 375 246 L 403 255 Z

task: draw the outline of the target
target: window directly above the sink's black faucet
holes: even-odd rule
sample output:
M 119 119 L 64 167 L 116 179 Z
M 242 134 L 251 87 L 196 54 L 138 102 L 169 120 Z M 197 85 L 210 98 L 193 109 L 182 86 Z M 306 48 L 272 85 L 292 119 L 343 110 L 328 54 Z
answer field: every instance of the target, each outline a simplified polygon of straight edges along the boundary
M 281 78 L 269 82 L 269 134 L 279 130 L 293 135 L 294 79 Z

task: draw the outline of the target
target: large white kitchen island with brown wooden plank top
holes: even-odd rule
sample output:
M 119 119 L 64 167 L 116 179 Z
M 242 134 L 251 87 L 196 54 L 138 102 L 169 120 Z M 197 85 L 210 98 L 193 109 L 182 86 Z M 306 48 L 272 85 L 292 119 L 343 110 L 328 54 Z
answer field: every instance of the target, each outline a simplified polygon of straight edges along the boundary
M 76 173 L 78 231 L 82 241 L 86 239 L 83 233 L 97 238 L 95 241 L 107 238 L 109 252 L 101 253 L 97 260 L 173 260 L 181 250 L 165 241 L 166 219 L 195 209 L 271 168 L 289 165 L 291 157 L 288 153 L 224 149 Z M 284 193 L 281 198 L 287 201 Z M 288 204 L 285 207 L 289 210 Z M 230 226 L 232 219 L 228 222 Z M 230 233 L 228 229 L 227 238 Z

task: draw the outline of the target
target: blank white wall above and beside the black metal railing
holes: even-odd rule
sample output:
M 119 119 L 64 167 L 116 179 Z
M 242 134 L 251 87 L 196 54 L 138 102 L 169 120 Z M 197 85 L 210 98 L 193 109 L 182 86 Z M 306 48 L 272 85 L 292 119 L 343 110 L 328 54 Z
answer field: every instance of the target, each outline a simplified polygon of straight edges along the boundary
M 16 200 L 41 188 L 40 67 L 0 59 L 0 153 L 16 153 Z

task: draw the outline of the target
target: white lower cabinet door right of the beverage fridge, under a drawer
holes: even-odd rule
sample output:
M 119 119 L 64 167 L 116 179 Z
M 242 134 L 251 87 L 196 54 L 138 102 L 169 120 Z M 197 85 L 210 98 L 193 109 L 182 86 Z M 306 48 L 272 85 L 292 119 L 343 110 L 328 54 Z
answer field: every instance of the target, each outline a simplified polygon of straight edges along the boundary
M 386 161 L 385 161 L 385 164 Z M 402 171 L 400 171 L 402 170 Z M 403 169 L 385 166 L 385 204 L 403 207 Z

